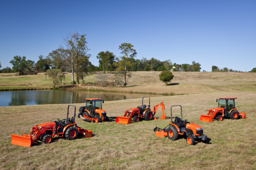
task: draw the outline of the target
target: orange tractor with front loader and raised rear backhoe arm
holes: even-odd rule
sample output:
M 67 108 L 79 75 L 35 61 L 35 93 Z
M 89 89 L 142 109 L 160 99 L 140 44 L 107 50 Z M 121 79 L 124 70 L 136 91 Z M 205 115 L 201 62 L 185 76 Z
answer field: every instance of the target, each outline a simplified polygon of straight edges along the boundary
M 153 111 L 150 109 L 150 98 L 149 98 L 149 104 L 143 105 L 143 98 L 149 98 L 149 97 L 142 97 L 142 105 L 138 106 L 137 108 L 131 108 L 127 111 L 125 111 L 124 116 L 117 116 L 116 117 L 116 123 L 122 123 L 122 124 L 131 124 L 131 119 L 133 118 L 133 122 L 139 122 L 140 118 L 144 118 L 146 121 L 150 120 L 157 120 L 155 118 L 155 114 L 157 109 L 162 106 L 163 115 L 161 119 L 165 119 L 165 107 L 164 107 L 164 101 L 162 103 L 157 104 L 154 106 Z

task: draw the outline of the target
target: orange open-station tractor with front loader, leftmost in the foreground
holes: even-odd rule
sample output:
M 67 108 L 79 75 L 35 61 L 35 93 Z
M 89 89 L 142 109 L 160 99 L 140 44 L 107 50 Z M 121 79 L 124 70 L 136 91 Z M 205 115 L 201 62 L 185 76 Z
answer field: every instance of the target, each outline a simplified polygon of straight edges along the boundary
M 72 106 L 72 105 L 69 105 Z M 68 106 L 68 111 L 69 111 Z M 69 112 L 67 113 L 67 118 L 64 120 L 59 120 L 50 122 L 50 123 L 43 123 L 33 126 L 32 130 L 30 131 L 29 135 L 22 134 L 23 136 L 11 134 L 13 145 L 19 145 L 23 147 L 30 147 L 31 144 L 34 144 L 37 140 L 41 140 L 44 143 L 51 143 L 52 138 L 57 134 L 58 137 L 65 137 L 68 140 L 73 140 L 78 137 L 78 134 L 84 135 L 84 138 L 91 138 L 92 131 L 85 130 L 77 126 L 75 122 L 76 116 L 76 106 L 74 117 L 71 119 L 68 117 Z

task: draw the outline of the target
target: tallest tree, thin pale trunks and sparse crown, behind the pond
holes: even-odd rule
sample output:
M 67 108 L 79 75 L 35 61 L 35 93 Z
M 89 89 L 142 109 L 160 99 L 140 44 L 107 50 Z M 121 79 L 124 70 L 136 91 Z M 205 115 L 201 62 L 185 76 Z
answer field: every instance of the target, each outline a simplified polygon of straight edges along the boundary
M 66 61 L 71 65 L 72 71 L 72 82 L 74 82 L 74 65 L 77 64 L 78 60 L 90 50 L 86 44 L 86 38 L 84 35 L 79 35 L 77 32 L 69 32 L 66 38 L 63 38 L 67 49 L 65 52 L 68 54 Z

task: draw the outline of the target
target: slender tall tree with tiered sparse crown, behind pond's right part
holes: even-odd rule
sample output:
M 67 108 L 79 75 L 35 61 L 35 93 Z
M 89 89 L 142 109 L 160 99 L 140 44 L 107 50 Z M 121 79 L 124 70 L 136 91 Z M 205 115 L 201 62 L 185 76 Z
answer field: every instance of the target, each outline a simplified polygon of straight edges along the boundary
M 121 54 L 124 56 L 116 57 L 117 62 L 115 62 L 114 65 L 118 67 L 121 73 L 124 73 L 124 86 L 126 86 L 126 75 L 127 77 L 131 77 L 131 74 L 127 74 L 127 72 L 129 72 L 128 66 L 132 65 L 130 59 L 136 57 L 137 53 L 136 50 L 133 49 L 133 45 L 129 43 L 121 44 L 118 49 L 122 50 Z

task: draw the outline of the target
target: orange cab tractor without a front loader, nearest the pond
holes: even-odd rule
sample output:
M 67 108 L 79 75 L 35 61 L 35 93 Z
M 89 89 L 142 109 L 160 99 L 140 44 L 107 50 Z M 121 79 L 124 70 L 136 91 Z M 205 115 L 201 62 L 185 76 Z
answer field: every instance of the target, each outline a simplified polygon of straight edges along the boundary
M 78 118 L 82 118 L 87 122 L 108 122 L 107 113 L 106 111 L 102 110 L 102 103 L 104 103 L 104 100 L 96 98 L 84 100 L 86 105 L 79 108 Z

